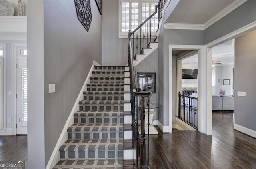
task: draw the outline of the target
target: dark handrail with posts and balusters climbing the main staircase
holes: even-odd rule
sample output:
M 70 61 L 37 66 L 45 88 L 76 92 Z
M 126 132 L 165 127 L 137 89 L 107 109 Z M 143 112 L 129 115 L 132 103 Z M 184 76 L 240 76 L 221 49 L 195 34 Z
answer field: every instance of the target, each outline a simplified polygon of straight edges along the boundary
M 128 43 L 128 66 L 130 68 L 130 92 L 131 92 L 131 115 L 132 115 L 132 147 L 133 147 L 133 154 L 135 154 L 135 149 L 136 149 L 136 169 L 138 169 L 138 158 L 139 158 L 139 154 L 140 154 L 140 165 L 143 166 L 143 168 L 145 167 L 145 165 L 147 165 L 147 169 L 150 169 L 150 164 L 149 164 L 149 125 L 150 125 L 150 121 L 149 121 L 149 107 L 148 107 L 148 112 L 147 112 L 147 116 L 148 116 L 148 121 L 145 121 L 145 117 L 146 117 L 146 113 L 145 113 L 145 97 L 148 97 L 148 103 L 150 102 L 150 95 L 151 95 L 151 91 L 140 91 L 139 89 L 136 88 L 136 77 L 135 77 L 135 72 L 134 72 L 134 64 L 133 64 L 133 60 L 134 60 L 134 55 L 133 55 L 133 49 L 134 49 L 134 33 L 137 32 L 140 29 L 140 37 L 141 35 L 143 35 L 143 48 L 141 48 L 141 39 L 140 39 L 140 50 L 141 52 L 143 51 L 143 49 L 145 48 L 144 46 L 144 40 L 146 37 L 146 43 L 147 43 L 147 47 L 149 47 L 148 44 L 148 32 L 146 32 L 145 34 L 145 29 L 143 29 L 143 34 L 141 34 L 141 30 L 142 30 L 142 26 L 146 26 L 146 28 L 148 29 L 148 21 L 150 20 L 150 42 L 155 42 L 156 38 L 155 38 L 155 32 L 154 32 L 154 41 L 151 41 L 151 32 L 152 32 L 152 17 L 156 15 L 157 10 L 159 8 L 159 4 L 160 1 L 158 3 L 158 5 L 155 6 L 155 12 L 153 14 L 151 14 L 146 20 L 144 20 L 144 22 L 142 22 L 142 24 L 140 24 L 136 29 L 134 29 L 132 32 L 131 30 L 129 30 L 129 43 Z M 154 18 L 154 24 L 155 24 L 155 18 Z M 155 30 L 155 27 L 154 27 Z M 133 48 L 132 48 L 132 42 L 131 42 L 131 36 L 133 35 Z M 138 32 L 136 34 L 136 50 L 138 53 Z M 135 58 L 136 59 L 136 58 Z M 141 118 L 141 126 L 140 126 L 140 141 L 139 141 L 139 129 L 138 129 L 138 97 L 141 98 L 141 112 L 140 112 L 140 118 Z M 137 104 L 137 106 L 136 106 Z M 135 107 L 136 107 L 136 111 L 135 111 Z M 147 133 L 145 130 L 145 124 L 147 124 Z M 148 135 L 147 138 L 147 147 L 146 147 L 146 135 Z M 136 148 L 135 148 L 136 145 Z M 147 149 L 147 153 L 146 153 L 146 149 Z M 146 164 L 146 154 L 147 154 L 147 164 Z M 134 161 L 135 158 L 133 158 L 133 164 L 135 164 Z

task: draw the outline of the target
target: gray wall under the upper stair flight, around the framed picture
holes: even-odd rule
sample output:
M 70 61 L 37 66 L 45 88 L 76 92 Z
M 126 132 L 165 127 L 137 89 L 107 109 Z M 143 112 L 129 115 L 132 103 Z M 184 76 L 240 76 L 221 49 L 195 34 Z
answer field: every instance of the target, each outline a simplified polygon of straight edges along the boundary
M 158 105 L 158 50 L 155 50 L 145 60 L 136 66 L 136 72 L 156 73 L 156 93 L 152 93 L 150 100 L 154 106 Z M 158 120 L 158 109 L 155 109 L 154 120 Z

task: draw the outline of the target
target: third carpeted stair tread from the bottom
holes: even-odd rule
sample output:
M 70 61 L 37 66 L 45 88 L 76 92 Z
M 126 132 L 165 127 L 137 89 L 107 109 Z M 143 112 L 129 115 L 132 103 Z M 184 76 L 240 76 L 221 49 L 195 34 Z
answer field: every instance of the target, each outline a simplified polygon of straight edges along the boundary
M 117 124 L 117 123 L 105 123 L 105 124 L 78 123 L 78 124 L 72 124 L 70 127 L 68 127 L 67 131 L 68 132 L 124 131 L 124 126 L 123 124 Z

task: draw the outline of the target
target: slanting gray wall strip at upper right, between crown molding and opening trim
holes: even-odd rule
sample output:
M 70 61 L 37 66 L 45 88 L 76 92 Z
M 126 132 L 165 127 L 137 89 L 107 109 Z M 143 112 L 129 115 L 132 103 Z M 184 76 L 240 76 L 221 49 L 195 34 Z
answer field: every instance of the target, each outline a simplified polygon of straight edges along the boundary
M 248 0 L 205 31 L 205 44 L 208 44 L 230 32 L 233 32 L 256 20 L 256 0 Z

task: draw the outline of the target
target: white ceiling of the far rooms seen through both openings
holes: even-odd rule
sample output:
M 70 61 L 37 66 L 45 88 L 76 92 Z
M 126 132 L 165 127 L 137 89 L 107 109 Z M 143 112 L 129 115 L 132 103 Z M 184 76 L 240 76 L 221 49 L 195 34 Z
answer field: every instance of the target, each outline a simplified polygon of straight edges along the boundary
M 193 55 L 182 60 L 182 64 L 186 65 L 197 65 L 198 55 Z M 224 42 L 218 46 L 212 48 L 212 60 L 220 61 L 223 64 L 234 63 L 234 39 Z

